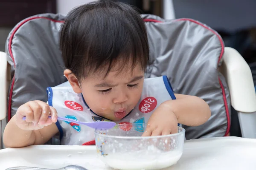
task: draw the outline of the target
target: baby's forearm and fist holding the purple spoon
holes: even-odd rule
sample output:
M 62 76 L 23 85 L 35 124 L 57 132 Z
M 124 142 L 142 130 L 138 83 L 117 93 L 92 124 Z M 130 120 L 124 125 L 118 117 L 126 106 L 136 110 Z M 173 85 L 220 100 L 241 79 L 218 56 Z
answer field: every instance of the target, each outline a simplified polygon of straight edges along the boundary
M 49 113 L 52 119 L 48 118 Z M 22 119 L 23 116 L 26 116 L 26 120 Z M 47 103 L 27 102 L 18 108 L 15 116 L 6 125 L 3 143 L 6 147 L 44 144 L 58 133 L 58 128 L 54 123 L 56 121 L 57 112 Z

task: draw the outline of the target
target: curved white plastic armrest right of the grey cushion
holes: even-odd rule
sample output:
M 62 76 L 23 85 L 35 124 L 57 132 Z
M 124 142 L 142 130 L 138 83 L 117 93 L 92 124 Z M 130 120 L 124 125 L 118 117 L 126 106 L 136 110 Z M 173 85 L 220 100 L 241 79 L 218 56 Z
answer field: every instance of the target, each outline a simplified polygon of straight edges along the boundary
M 238 51 L 225 47 L 220 71 L 227 80 L 233 108 L 244 113 L 255 112 L 256 93 L 252 72 Z

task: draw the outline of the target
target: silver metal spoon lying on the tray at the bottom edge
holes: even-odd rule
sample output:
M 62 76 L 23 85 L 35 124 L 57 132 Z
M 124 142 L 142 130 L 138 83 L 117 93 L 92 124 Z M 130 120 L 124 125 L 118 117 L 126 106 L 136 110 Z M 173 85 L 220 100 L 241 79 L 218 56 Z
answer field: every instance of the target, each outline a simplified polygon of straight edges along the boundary
M 40 167 L 10 167 L 6 170 L 87 170 L 84 167 L 78 165 L 68 165 L 66 167 L 62 167 L 59 169 L 47 169 L 47 168 L 40 168 Z

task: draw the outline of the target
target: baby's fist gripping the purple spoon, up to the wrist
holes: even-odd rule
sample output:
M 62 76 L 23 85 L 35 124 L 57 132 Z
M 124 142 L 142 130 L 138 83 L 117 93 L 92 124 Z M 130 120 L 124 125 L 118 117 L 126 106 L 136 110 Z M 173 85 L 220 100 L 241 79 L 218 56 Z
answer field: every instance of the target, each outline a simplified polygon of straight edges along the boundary
M 23 117 L 26 119 L 23 120 Z M 52 118 L 49 119 L 48 116 Z M 23 130 L 38 130 L 57 122 L 57 111 L 42 101 L 32 101 L 21 105 L 16 112 L 16 125 Z

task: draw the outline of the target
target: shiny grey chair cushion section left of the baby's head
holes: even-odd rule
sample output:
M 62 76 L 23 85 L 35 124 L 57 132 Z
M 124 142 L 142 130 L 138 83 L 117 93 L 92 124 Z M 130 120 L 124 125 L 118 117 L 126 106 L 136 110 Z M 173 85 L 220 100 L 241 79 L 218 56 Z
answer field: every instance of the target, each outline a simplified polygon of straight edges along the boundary
M 64 16 L 41 14 L 29 17 L 10 32 L 6 53 L 12 66 L 8 95 L 8 119 L 31 100 L 47 101 L 46 88 L 66 81 L 58 34 Z

